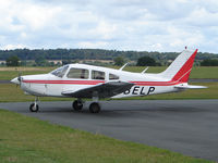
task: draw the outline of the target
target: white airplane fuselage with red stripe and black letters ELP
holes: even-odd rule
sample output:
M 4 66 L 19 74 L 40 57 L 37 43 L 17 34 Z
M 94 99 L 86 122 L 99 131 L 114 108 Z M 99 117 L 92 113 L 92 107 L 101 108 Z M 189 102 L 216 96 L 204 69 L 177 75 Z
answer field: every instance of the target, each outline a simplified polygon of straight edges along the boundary
M 69 77 L 71 68 L 83 68 L 86 71 L 86 77 Z M 105 73 L 104 79 L 94 79 L 93 72 L 100 71 Z M 55 73 L 53 73 L 55 74 Z M 156 74 L 141 74 L 119 71 L 113 68 L 106 68 L 100 66 L 92 66 L 86 64 L 69 64 L 63 76 L 57 76 L 52 73 L 41 75 L 26 75 L 22 76 L 21 88 L 34 96 L 50 96 L 50 97 L 65 97 L 63 91 L 77 91 L 94 85 L 99 85 L 107 82 L 128 82 L 133 83 L 134 86 L 120 95 L 111 98 L 137 97 L 156 93 L 180 91 L 174 88 L 181 83 L 170 82 L 167 78 L 158 77 Z M 119 78 L 110 78 L 110 75 L 116 75 Z

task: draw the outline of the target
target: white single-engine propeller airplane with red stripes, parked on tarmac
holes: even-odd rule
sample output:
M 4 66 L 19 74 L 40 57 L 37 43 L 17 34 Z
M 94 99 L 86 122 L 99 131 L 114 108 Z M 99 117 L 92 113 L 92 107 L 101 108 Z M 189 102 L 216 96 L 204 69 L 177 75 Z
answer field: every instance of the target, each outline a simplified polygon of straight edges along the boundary
M 170 66 L 158 74 L 131 73 L 120 70 L 93 66 L 86 64 L 63 65 L 48 74 L 25 75 L 13 78 L 11 82 L 21 86 L 26 93 L 35 96 L 35 102 L 29 110 L 37 112 L 38 97 L 72 97 L 76 98 L 72 106 L 83 109 L 82 99 L 90 98 L 92 113 L 100 111 L 99 99 L 149 96 L 166 92 L 175 92 L 185 89 L 206 88 L 187 84 L 189 76 L 197 49 L 183 50 Z

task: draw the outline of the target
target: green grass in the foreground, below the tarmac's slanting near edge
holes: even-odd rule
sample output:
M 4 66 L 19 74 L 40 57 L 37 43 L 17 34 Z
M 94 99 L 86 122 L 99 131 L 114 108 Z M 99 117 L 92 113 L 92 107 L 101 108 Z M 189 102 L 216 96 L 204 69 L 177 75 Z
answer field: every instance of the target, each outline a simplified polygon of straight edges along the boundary
M 210 163 L 0 110 L 1 163 Z

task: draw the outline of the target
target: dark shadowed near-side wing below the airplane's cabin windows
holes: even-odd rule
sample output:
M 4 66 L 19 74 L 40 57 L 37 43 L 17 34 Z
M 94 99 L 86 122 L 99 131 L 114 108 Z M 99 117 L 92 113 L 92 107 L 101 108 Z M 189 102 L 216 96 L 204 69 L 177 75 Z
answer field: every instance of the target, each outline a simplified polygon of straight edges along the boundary
M 63 96 L 74 97 L 74 98 L 109 98 L 116 95 L 122 93 L 130 89 L 134 84 L 126 82 L 109 82 L 93 87 L 80 89 L 77 91 L 63 91 Z

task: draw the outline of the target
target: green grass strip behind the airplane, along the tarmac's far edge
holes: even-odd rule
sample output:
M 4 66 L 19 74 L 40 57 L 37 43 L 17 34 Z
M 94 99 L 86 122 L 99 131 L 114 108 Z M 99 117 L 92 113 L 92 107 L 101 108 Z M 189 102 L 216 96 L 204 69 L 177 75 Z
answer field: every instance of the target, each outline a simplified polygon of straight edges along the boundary
M 128 100 L 168 100 L 168 99 L 218 99 L 218 83 L 194 83 L 207 86 L 207 89 L 192 89 L 182 92 L 154 95 L 148 97 L 123 98 Z M 33 96 L 24 95 L 20 87 L 13 84 L 0 84 L 0 102 L 34 101 Z M 121 100 L 123 100 L 121 99 Z M 72 101 L 72 98 L 43 97 L 41 101 Z

